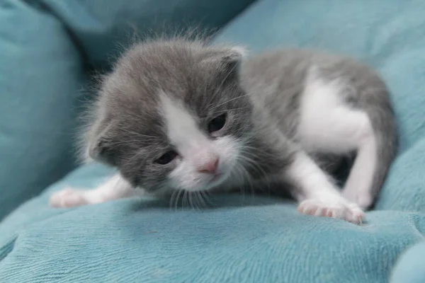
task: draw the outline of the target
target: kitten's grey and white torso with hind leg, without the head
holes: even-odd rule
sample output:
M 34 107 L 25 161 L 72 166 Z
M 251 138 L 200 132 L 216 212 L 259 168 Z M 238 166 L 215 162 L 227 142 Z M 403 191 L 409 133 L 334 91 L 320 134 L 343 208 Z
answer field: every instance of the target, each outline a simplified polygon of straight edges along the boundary
M 307 50 L 268 52 L 246 60 L 241 70 L 254 105 L 319 165 L 326 164 L 323 158 L 358 154 L 344 195 L 369 207 L 397 149 L 379 76 L 352 59 Z

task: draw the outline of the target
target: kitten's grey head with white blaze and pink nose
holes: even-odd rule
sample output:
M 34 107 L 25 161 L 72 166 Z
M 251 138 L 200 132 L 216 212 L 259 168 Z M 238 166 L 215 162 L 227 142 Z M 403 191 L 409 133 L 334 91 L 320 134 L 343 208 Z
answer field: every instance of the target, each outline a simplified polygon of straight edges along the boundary
M 150 192 L 228 181 L 251 129 L 241 59 L 239 48 L 186 40 L 135 46 L 103 81 L 87 154 Z

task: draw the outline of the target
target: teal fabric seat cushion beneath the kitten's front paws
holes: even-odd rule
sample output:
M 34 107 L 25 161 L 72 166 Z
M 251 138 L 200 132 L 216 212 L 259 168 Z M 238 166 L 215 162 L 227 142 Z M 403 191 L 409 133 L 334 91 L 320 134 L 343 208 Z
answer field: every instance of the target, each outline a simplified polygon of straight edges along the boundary
M 0 282 L 387 282 L 425 229 L 414 212 L 369 212 L 355 226 L 249 195 L 203 211 L 134 199 L 47 207 L 52 191 L 108 172 L 79 168 L 0 224 Z

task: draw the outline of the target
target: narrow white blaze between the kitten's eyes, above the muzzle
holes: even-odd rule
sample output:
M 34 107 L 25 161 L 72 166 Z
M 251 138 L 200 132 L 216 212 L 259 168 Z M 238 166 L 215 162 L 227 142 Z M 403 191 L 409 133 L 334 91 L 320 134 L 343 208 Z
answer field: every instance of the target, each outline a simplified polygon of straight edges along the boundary
M 166 122 L 167 136 L 171 144 L 183 155 L 192 155 L 193 151 L 208 150 L 208 139 L 200 131 L 196 120 L 179 101 L 160 93 L 162 114 Z

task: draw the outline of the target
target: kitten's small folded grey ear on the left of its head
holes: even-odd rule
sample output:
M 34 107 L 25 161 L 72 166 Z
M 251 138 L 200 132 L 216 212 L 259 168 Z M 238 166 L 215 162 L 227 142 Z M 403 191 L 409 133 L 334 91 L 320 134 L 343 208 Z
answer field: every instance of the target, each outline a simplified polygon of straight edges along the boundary
M 97 127 L 96 127 L 97 126 Z M 90 129 L 86 134 L 86 158 L 117 166 L 117 150 L 113 146 L 111 139 L 111 124 L 94 125 L 95 129 Z

